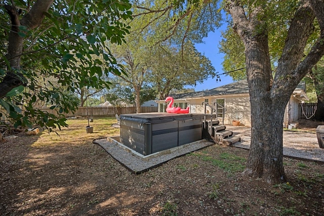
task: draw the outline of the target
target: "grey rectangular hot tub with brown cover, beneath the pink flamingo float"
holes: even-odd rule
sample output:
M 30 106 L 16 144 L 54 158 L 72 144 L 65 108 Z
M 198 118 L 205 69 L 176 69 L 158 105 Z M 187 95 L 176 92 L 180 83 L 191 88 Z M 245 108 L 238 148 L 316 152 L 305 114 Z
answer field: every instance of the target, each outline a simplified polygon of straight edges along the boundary
M 120 141 L 142 155 L 202 139 L 204 115 L 139 113 L 120 115 Z

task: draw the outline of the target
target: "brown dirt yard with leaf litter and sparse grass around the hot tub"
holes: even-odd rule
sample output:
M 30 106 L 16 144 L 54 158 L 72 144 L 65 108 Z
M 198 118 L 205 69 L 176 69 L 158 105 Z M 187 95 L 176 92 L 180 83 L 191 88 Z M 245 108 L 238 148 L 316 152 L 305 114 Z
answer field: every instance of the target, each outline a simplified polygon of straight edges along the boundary
M 289 181 L 268 186 L 240 174 L 247 150 L 213 145 L 136 175 L 93 143 L 118 135 L 115 121 L 94 119 L 89 134 L 76 119 L 60 136 L 5 137 L 0 215 L 324 215 L 324 164 L 285 158 Z

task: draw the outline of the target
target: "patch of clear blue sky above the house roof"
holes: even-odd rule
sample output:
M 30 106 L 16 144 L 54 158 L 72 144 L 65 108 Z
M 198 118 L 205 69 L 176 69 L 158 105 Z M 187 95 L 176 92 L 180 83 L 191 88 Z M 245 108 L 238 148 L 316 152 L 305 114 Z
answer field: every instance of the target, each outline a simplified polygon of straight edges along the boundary
M 223 25 L 222 27 L 226 27 L 226 25 Z M 221 27 L 221 28 L 222 28 Z M 221 41 L 221 28 L 215 29 L 215 32 L 210 32 L 208 34 L 208 37 L 205 38 L 203 41 L 204 44 L 196 44 L 196 49 L 204 54 L 209 60 L 212 62 L 212 65 L 215 67 L 216 72 L 218 71 L 219 74 L 223 73 L 222 70 L 222 61 L 224 60 L 224 54 L 219 53 L 219 42 Z M 187 88 L 194 88 L 195 91 L 203 91 L 208 89 L 213 89 L 219 86 L 223 86 L 229 83 L 232 83 L 233 80 L 230 76 L 221 75 L 220 76 L 221 82 L 216 82 L 215 78 L 209 78 L 208 80 L 205 80 L 204 83 L 200 84 L 197 83 L 197 85 L 194 86 L 187 86 Z

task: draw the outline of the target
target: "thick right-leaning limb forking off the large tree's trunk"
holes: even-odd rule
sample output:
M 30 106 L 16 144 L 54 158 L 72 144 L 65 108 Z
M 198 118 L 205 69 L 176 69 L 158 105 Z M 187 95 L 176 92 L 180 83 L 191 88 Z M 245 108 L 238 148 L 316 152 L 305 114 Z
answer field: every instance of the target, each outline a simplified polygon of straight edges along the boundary
M 310 63 L 310 61 L 313 61 L 310 58 L 315 57 L 313 52 L 317 53 L 317 51 L 313 49 L 314 47 L 319 48 L 319 44 L 315 44 L 312 51 L 301 62 L 307 40 L 313 31 L 314 18 L 315 14 L 311 9 L 310 3 L 304 1 L 302 6 L 296 11 L 288 30 L 285 47 L 278 61 L 278 67 L 274 77 L 272 97 L 275 97 L 275 94 L 279 93 L 281 89 L 285 89 L 288 93 L 291 93 L 294 90 L 294 86 L 297 86 L 299 81 L 317 62 L 314 64 Z M 289 82 L 287 82 L 288 80 Z

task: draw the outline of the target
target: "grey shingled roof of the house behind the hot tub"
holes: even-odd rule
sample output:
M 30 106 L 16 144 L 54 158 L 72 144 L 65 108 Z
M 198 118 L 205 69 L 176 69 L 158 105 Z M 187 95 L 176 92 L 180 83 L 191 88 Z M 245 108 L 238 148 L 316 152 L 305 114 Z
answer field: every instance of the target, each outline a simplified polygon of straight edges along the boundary
M 188 92 L 182 94 L 171 95 L 174 99 L 185 99 L 194 97 L 207 97 L 214 95 L 229 95 L 229 94 L 245 94 L 249 93 L 249 86 L 247 80 L 242 80 L 220 86 L 206 91 Z

